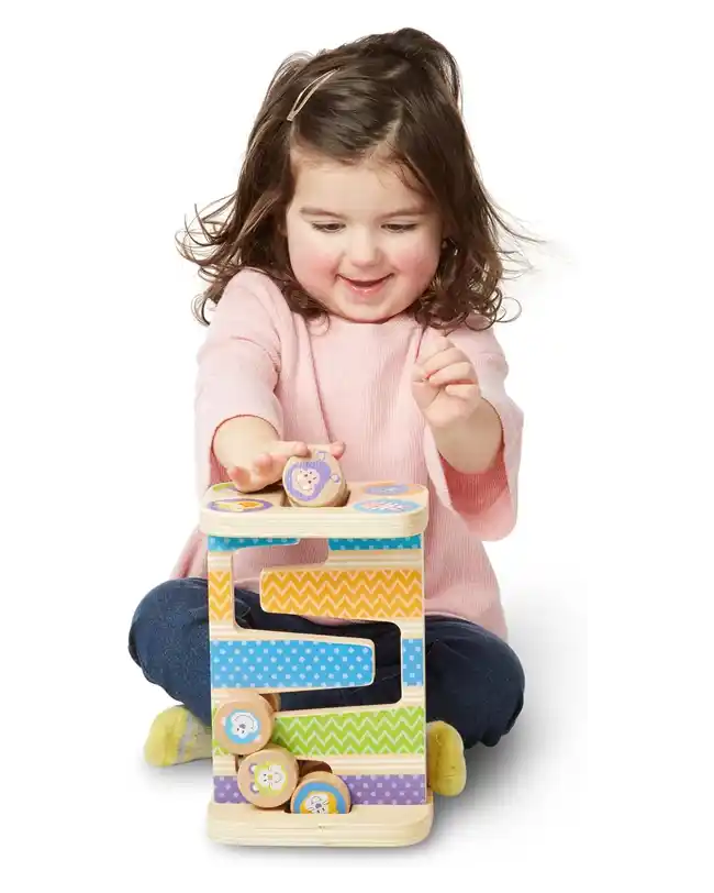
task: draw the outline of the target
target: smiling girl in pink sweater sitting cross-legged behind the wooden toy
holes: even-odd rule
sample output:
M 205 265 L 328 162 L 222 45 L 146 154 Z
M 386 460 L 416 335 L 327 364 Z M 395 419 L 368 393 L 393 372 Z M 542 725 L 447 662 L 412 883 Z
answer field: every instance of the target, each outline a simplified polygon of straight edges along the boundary
M 289 456 L 325 443 L 347 479 L 429 488 L 427 757 L 432 790 L 446 795 L 464 787 L 464 748 L 495 745 L 524 694 L 482 545 L 514 526 L 521 454 L 522 414 L 493 333 L 498 224 L 512 233 L 476 170 L 456 63 L 408 29 L 285 63 L 235 195 L 192 240 L 204 255 L 183 250 L 211 282 L 203 322 L 215 305 L 199 353 L 201 494 L 222 481 L 260 489 Z M 149 731 L 157 765 L 211 753 L 205 555 L 196 531 L 131 627 L 132 658 L 180 704 Z M 236 622 L 373 639 L 372 685 L 283 693 L 283 709 L 394 703 L 397 627 L 260 608 L 265 565 L 325 558 L 316 540 L 239 551 Z

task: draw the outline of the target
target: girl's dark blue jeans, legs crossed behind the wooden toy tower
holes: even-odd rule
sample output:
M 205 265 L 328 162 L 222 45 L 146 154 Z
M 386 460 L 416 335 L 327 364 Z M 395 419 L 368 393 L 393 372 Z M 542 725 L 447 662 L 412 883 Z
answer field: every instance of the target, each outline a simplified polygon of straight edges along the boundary
M 399 628 L 386 621 L 324 626 L 302 617 L 267 614 L 256 593 L 235 591 L 241 627 L 306 635 L 349 636 L 375 642 L 375 681 L 353 688 L 281 692 L 286 710 L 393 704 L 401 692 Z M 443 719 L 467 748 L 498 743 L 523 708 L 525 679 L 518 658 L 499 637 L 466 620 L 426 618 L 426 719 Z M 140 603 L 129 651 L 146 679 L 207 726 L 211 724 L 208 583 L 172 580 Z

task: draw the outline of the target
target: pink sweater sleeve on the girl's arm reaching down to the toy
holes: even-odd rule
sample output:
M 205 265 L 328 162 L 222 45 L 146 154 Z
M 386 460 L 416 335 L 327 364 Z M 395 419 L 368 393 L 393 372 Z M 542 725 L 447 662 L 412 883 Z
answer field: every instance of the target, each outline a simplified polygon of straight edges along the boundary
M 257 274 L 241 272 L 226 285 L 198 353 L 196 483 L 199 496 L 227 475 L 213 454 L 213 438 L 227 419 L 257 416 L 282 437 L 275 389 L 280 339 L 269 290 Z

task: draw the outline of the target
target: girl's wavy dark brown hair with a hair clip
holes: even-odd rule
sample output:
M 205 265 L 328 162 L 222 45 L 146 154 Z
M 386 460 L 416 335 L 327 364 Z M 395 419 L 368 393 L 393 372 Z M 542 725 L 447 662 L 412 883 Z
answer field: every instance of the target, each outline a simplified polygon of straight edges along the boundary
M 333 74 L 299 108 L 301 91 Z M 518 254 L 499 242 L 501 232 L 533 240 L 506 224 L 481 183 L 461 118 L 460 73 L 454 56 L 414 29 L 373 34 L 321 51 L 297 54 L 278 68 L 254 122 L 237 189 L 200 214 L 199 231 L 186 227 L 179 253 L 209 282 L 193 313 L 208 324 L 242 268 L 268 274 L 291 310 L 308 319 L 325 308 L 295 279 L 285 236 L 294 189 L 292 150 L 346 164 L 388 152 L 439 208 L 447 234 L 436 275 L 409 308 L 421 324 L 457 328 L 477 315 L 486 326 L 503 318 L 505 261 Z M 210 208 L 211 206 L 209 206 Z M 185 221 L 186 223 L 186 221 Z

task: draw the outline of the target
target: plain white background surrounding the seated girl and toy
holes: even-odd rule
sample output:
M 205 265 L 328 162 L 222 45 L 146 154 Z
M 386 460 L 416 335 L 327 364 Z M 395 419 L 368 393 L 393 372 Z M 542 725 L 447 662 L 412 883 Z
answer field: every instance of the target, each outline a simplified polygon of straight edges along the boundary
M 706 886 L 704 22 L 694 2 L 453 8 L 0 4 L 0 872 L 16 860 L 20 889 L 308 881 L 295 870 L 443 884 L 454 860 L 477 889 Z M 406 24 L 456 54 L 487 187 L 547 240 L 510 286 L 521 319 L 499 329 L 526 432 L 520 522 L 489 547 L 526 707 L 470 754 L 467 791 L 437 802 L 420 847 L 222 848 L 205 837 L 209 764 L 143 764 L 169 702 L 120 644 L 196 520 L 201 283 L 174 235 L 233 191 L 286 55 Z

